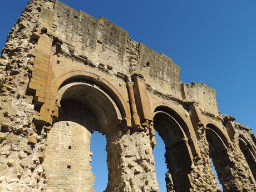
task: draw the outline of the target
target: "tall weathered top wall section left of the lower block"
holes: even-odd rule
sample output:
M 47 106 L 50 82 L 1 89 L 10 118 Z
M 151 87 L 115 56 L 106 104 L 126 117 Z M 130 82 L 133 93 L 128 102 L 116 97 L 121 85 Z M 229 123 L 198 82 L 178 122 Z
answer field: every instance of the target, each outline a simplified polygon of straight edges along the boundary
M 53 14 L 46 28 L 63 41 L 63 53 L 85 56 L 96 67 L 127 76 L 140 73 L 147 84 L 180 97 L 180 67 L 171 58 L 131 40 L 125 29 L 104 17 L 96 19 L 59 1 Z

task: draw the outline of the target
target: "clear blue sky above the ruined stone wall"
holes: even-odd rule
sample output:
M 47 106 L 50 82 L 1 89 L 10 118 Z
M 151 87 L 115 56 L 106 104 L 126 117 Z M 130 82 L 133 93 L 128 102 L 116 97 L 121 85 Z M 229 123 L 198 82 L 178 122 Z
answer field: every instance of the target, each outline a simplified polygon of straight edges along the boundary
M 0 7 L 0 47 L 27 2 L 4 1 Z M 255 0 L 62 2 L 109 19 L 133 40 L 173 58 L 182 81 L 215 88 L 219 111 L 256 132 Z

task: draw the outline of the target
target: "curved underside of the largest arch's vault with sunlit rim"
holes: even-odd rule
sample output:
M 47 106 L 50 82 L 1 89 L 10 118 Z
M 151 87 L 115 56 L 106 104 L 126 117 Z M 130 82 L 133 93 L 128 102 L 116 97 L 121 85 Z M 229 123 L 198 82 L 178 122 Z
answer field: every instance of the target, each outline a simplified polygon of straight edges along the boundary
M 96 85 L 85 82 L 71 82 L 63 85 L 57 93 L 57 105 L 62 106 L 61 102 L 70 102 L 72 99 L 80 102 L 81 105 L 87 105 L 99 123 L 100 127 L 97 131 L 102 133 L 107 130 L 103 130 L 101 127 L 110 127 L 113 124 L 118 124 L 118 121 L 124 118 L 115 101 Z

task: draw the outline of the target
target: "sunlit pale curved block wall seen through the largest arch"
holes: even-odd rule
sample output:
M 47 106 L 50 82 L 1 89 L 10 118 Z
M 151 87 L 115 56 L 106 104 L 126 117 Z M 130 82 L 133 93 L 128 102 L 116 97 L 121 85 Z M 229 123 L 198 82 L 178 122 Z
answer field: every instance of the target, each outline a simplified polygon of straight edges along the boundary
M 91 132 L 72 121 L 54 124 L 45 150 L 48 190 L 95 191 L 91 171 Z

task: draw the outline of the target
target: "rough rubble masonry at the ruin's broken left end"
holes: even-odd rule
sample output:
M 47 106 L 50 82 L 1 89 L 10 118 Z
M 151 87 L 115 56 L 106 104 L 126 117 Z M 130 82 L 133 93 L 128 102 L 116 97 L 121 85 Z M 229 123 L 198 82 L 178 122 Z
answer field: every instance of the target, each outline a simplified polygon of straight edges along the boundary
M 47 4 L 47 6 L 46 6 Z M 53 2 L 29 1 L 9 33 L 0 58 L 0 191 L 42 191 L 45 137 L 35 129 L 32 97 L 26 92 L 32 73 L 33 33 L 41 32 L 40 12 Z

